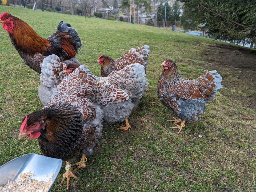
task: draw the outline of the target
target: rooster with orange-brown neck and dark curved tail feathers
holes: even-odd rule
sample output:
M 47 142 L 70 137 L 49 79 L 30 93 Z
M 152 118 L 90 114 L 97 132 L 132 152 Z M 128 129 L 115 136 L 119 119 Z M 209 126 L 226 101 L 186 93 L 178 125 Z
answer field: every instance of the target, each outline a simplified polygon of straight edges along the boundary
M 70 24 L 60 21 L 57 32 L 44 39 L 24 21 L 3 12 L 0 14 L 0 23 L 9 33 L 11 42 L 24 63 L 39 74 L 40 63 L 50 54 L 57 55 L 61 61 L 75 57 L 81 50 L 81 40 L 78 33 Z

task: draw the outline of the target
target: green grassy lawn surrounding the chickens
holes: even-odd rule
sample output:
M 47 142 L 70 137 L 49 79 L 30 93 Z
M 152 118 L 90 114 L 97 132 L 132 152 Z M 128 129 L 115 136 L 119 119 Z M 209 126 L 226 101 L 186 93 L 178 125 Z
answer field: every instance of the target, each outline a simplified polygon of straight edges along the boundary
M 4 11 L 21 18 L 45 38 L 55 32 L 60 20 L 70 23 L 83 43 L 78 59 L 98 76 L 100 65 L 96 61 L 100 55 L 118 58 L 130 48 L 150 46 L 149 89 L 129 118 L 132 129 L 126 132 L 116 129 L 121 123 L 107 126 L 94 154 L 88 158 L 87 167 L 75 172 L 79 181 L 71 179 L 72 189 L 225 191 L 224 187 L 229 187 L 234 191 L 256 190 L 256 121 L 242 119 L 256 117 L 255 110 L 243 102 L 246 95 L 256 93 L 255 83 L 237 79 L 232 69 L 205 65 L 209 58 L 203 52 L 211 49 L 209 45 L 225 43 L 145 25 L 96 18 L 85 21 L 82 16 L 0 6 L 0 12 Z M 22 118 L 43 105 L 37 92 L 39 75 L 23 63 L 2 28 L 0 56 L 2 165 L 26 153 L 42 154 L 37 139 L 18 140 L 18 133 Z M 224 86 L 215 100 L 207 104 L 198 121 L 187 122 L 180 134 L 170 129 L 173 124 L 166 120 L 173 115 L 156 96 L 165 58 L 174 59 L 186 78 L 197 78 L 202 69 L 216 67 L 223 76 Z M 255 74 L 251 78 L 252 82 L 256 81 Z M 203 137 L 198 138 L 197 134 Z M 62 168 L 53 191 L 66 190 L 65 184 L 60 186 L 63 173 Z

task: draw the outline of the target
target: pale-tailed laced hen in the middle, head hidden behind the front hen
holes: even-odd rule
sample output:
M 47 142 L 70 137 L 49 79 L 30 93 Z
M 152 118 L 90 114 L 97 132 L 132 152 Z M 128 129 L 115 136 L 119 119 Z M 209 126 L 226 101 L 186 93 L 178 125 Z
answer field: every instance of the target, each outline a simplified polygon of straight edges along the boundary
M 68 65 L 69 69 L 71 65 Z M 95 104 L 101 107 L 103 124 L 122 122 L 124 131 L 131 128 L 128 117 L 137 108 L 148 82 L 145 67 L 139 63 L 114 70 L 107 77 L 97 77 L 88 71 L 96 84 Z

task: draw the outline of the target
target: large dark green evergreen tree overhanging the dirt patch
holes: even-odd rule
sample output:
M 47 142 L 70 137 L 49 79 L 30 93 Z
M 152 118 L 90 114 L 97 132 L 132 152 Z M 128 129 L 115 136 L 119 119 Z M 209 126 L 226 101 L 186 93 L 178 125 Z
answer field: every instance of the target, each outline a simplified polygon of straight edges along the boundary
M 191 28 L 200 27 L 216 39 L 255 42 L 256 2 L 253 0 L 182 0 Z M 182 22 L 186 25 L 185 22 Z M 183 25 L 182 24 L 182 25 Z M 184 26 L 184 25 L 183 25 Z

